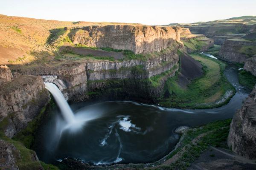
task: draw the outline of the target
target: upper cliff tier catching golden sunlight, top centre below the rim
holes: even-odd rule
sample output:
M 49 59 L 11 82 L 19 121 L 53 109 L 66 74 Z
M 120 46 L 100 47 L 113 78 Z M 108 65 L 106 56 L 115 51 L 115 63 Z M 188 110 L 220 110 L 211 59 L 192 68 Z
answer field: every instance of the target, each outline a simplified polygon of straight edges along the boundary
M 74 44 L 131 50 L 135 54 L 152 53 L 180 42 L 180 27 L 158 26 L 88 26 L 71 30 Z

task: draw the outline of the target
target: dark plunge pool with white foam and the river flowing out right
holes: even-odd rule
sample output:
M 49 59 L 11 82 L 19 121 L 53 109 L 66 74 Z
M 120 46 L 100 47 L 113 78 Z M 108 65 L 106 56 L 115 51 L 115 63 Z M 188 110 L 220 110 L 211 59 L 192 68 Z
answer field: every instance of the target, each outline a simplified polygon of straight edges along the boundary
M 182 110 L 131 101 L 81 102 L 70 105 L 74 122 L 79 122 L 74 123 L 66 121 L 67 116 L 56 107 L 35 136 L 35 150 L 40 160 L 52 164 L 66 158 L 96 165 L 157 161 L 177 144 L 177 127 L 232 118 L 241 108 L 247 91 L 239 85 L 236 70 L 229 67 L 224 72 L 237 93 L 220 108 Z

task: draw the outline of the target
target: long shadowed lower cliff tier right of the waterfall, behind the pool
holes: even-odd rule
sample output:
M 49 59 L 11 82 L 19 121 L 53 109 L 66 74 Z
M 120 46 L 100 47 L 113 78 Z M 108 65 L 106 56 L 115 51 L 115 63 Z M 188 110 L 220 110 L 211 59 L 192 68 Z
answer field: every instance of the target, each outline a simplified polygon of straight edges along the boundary
M 41 75 L 44 81 L 55 83 L 68 101 L 87 101 L 98 99 L 100 96 L 105 96 L 105 99 L 122 99 L 130 96 L 132 99 L 140 100 L 139 94 L 143 94 L 143 98 L 148 98 L 148 101 L 152 102 L 151 97 L 161 95 L 163 87 L 151 87 L 152 83 L 148 78 L 166 71 L 169 71 L 168 76 L 173 76 L 178 69 L 178 48 L 178 44 L 175 43 L 165 51 L 152 54 L 148 59 L 73 61 L 54 68 L 42 66 L 14 71 Z M 110 89 L 116 90 L 113 90 L 112 94 L 107 93 Z

